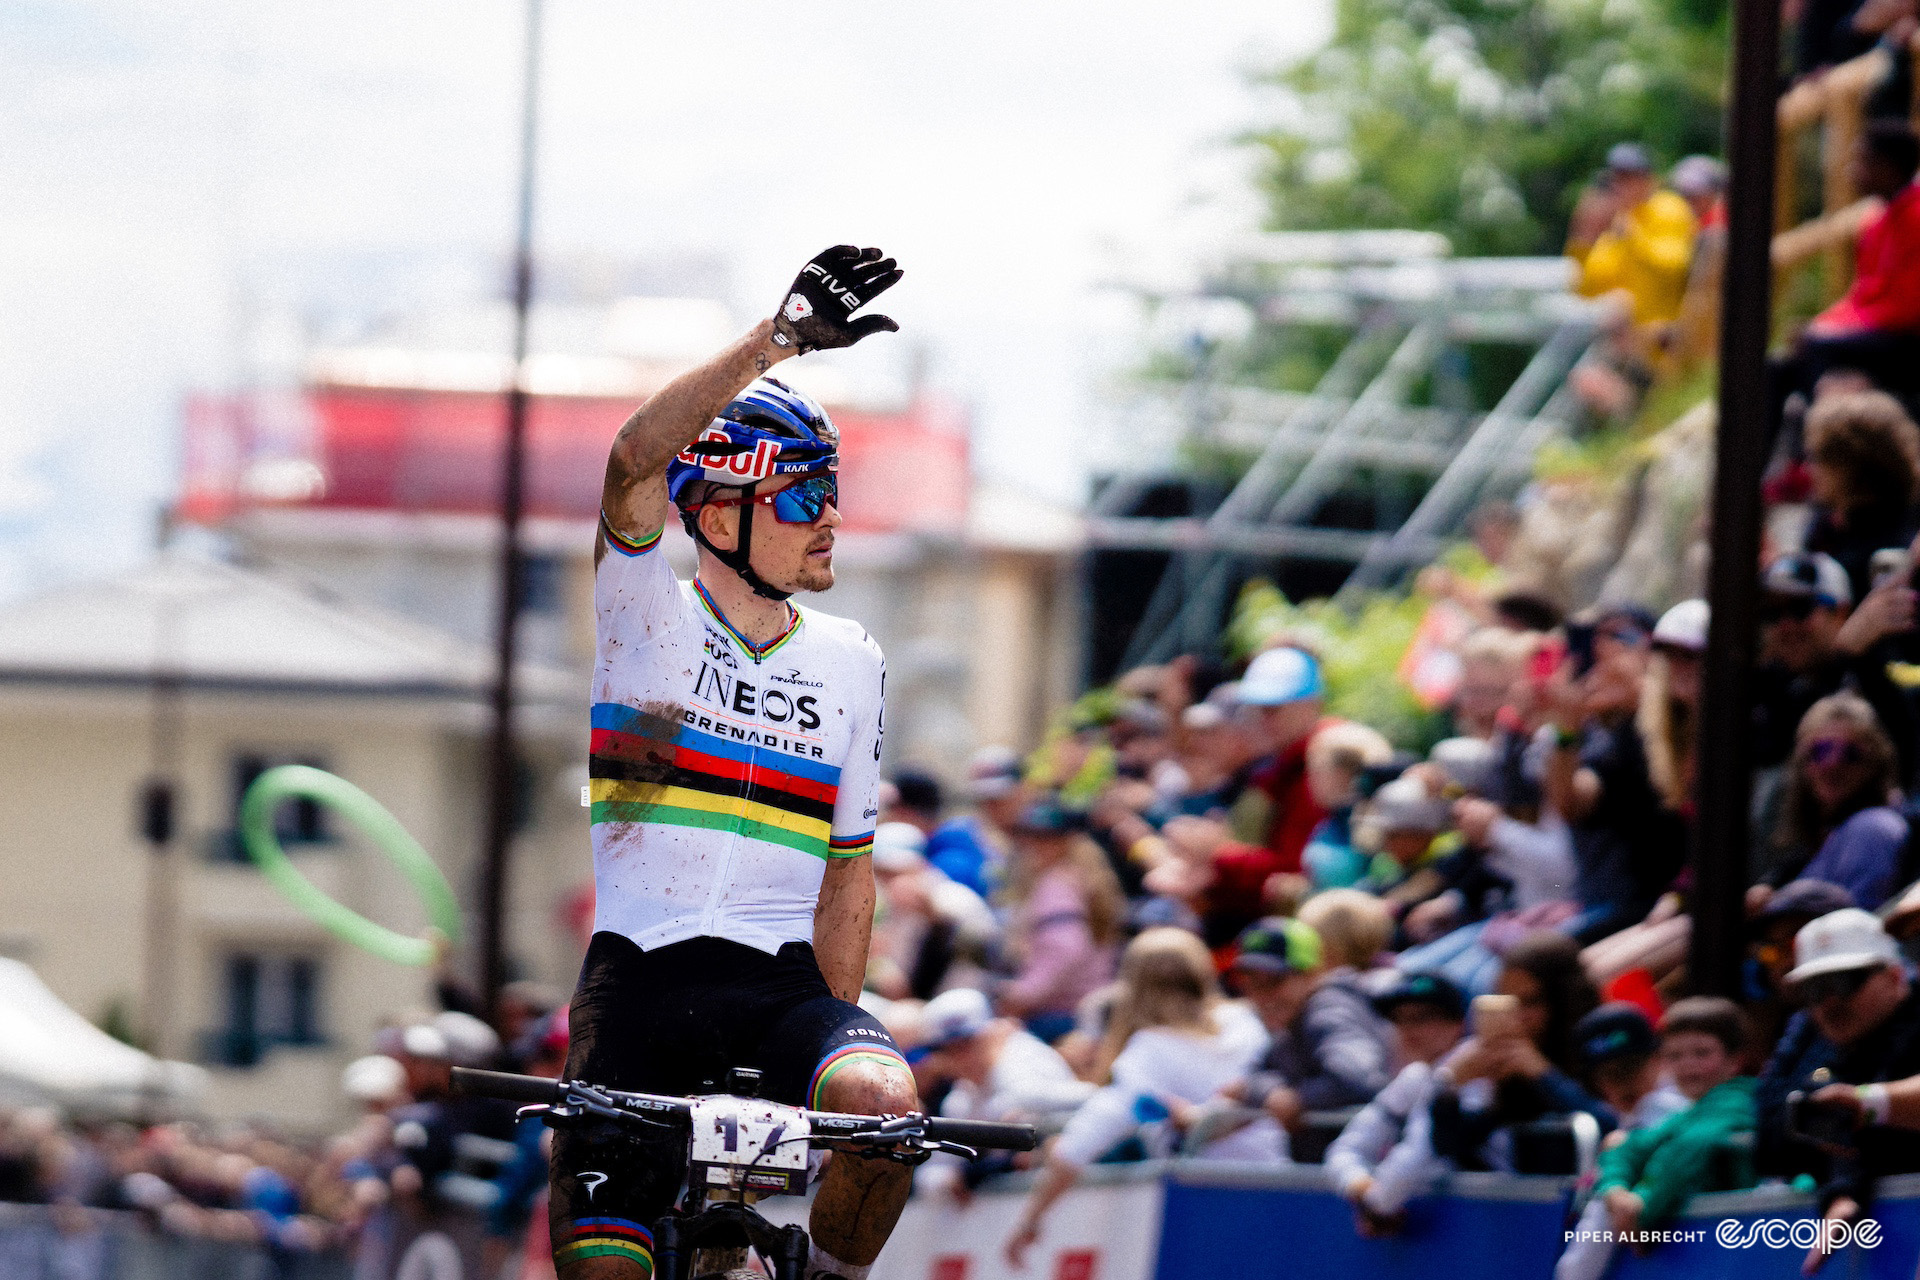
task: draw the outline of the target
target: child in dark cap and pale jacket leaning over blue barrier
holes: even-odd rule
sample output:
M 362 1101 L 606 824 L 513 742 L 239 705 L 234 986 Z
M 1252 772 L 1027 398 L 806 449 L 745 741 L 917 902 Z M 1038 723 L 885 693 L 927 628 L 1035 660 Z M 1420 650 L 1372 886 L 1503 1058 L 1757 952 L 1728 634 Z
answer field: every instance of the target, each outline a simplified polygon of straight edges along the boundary
M 1428 1125 L 1432 1069 L 1459 1044 L 1467 994 L 1438 973 L 1400 973 L 1373 1007 L 1394 1027 L 1402 1067 L 1346 1123 L 1325 1157 L 1327 1176 L 1354 1205 L 1361 1236 L 1398 1230 L 1407 1201 L 1448 1171 L 1434 1155 Z

